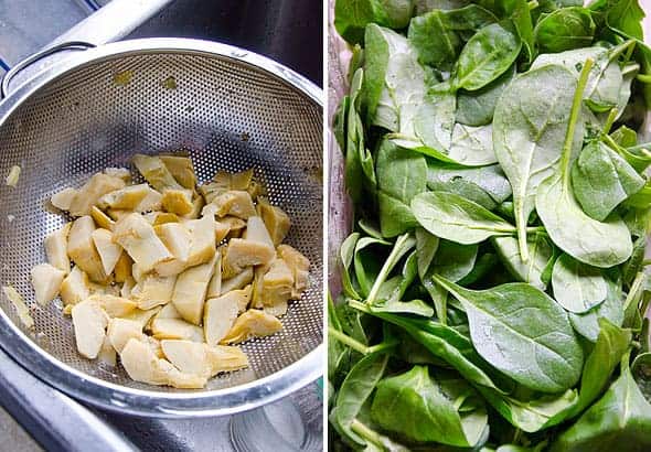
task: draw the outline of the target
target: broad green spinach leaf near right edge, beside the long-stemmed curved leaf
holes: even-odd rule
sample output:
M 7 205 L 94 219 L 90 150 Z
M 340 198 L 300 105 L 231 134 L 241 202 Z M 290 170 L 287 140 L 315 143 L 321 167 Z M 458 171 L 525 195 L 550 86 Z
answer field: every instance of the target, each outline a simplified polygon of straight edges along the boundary
M 606 144 L 590 141 L 572 168 L 572 186 L 584 212 L 602 222 L 644 186 L 644 179 Z

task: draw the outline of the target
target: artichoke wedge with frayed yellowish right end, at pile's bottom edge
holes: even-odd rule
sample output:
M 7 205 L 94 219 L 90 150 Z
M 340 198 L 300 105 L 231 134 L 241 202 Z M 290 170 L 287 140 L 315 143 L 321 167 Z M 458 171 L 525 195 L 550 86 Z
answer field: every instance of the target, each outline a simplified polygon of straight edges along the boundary
M 164 340 L 161 347 L 166 357 L 181 372 L 211 378 L 220 372 L 232 372 L 248 366 L 238 347 L 210 346 L 192 341 Z

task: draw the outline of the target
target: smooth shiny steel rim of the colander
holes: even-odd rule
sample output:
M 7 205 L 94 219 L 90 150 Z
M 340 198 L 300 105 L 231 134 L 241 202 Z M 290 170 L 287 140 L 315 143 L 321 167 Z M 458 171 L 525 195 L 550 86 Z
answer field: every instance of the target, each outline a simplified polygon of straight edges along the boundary
M 89 49 L 46 68 L 0 101 L 0 127 L 11 114 L 42 88 L 78 71 L 119 56 L 142 53 L 196 53 L 236 60 L 269 73 L 307 95 L 321 109 L 323 90 L 312 82 L 266 56 L 228 44 L 185 37 L 120 41 Z M 115 412 L 162 418 L 227 416 L 273 402 L 323 375 L 324 346 L 319 344 L 289 366 L 254 381 L 230 388 L 161 392 L 113 384 L 77 370 L 43 351 L 0 309 L 0 347 L 28 372 L 56 389 Z

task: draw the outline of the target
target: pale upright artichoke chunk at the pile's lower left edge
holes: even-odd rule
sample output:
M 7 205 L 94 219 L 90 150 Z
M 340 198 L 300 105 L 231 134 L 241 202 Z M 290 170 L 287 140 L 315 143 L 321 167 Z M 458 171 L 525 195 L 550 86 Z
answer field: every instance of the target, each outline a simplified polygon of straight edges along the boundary
M 104 344 L 108 316 L 94 300 L 75 304 L 72 314 L 77 351 L 82 356 L 95 359 Z

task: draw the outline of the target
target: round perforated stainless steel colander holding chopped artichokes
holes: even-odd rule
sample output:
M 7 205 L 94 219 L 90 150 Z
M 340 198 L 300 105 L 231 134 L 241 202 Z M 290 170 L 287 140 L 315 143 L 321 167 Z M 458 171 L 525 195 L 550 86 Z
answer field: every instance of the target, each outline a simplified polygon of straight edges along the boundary
M 139 40 L 83 52 L 0 106 L 0 282 L 25 298 L 26 330 L 0 298 L 0 345 L 39 377 L 107 408 L 138 413 L 223 413 L 286 395 L 320 373 L 322 342 L 322 107 L 320 90 L 289 69 L 234 47 L 193 40 Z M 286 243 L 311 262 L 310 289 L 290 304 L 280 333 L 247 342 L 248 369 L 204 390 L 132 381 L 121 367 L 77 354 L 56 300 L 40 306 L 30 269 L 43 239 L 70 218 L 49 207 L 66 186 L 132 154 L 186 152 L 200 182 L 217 170 L 254 168 L 292 226 Z M 138 177 L 137 173 L 134 173 Z

